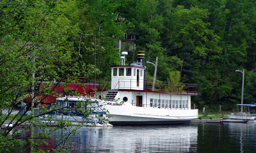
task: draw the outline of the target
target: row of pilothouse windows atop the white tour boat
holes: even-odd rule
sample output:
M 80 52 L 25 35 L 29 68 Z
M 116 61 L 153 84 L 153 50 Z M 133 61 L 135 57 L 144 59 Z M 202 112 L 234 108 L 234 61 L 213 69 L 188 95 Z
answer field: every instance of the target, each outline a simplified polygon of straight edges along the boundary
M 136 72 L 138 74 L 140 74 L 140 77 L 143 76 L 143 70 L 139 70 L 136 68 L 113 68 L 113 76 L 117 76 L 117 75 L 118 76 L 131 76 L 132 69 L 133 69 L 133 76 L 136 76 Z M 117 72 L 118 72 L 118 74 L 117 74 Z

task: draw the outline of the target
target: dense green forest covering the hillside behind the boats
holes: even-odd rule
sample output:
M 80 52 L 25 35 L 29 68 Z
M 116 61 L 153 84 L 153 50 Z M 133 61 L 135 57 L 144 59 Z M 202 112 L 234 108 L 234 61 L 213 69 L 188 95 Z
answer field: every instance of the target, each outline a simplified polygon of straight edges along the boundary
M 133 34 L 136 50 L 128 52 L 126 63 L 136 62 L 137 51 L 145 51 L 145 61 L 153 62 L 158 57 L 157 79 L 175 80 L 181 74 L 181 80 L 176 80 L 197 83 L 199 108 L 216 111 L 221 104 L 230 111 L 240 103 L 242 74 L 235 70 L 242 69 L 244 103 L 256 102 L 255 0 L 3 0 L 0 3 L 2 53 L 3 46 L 18 45 L 21 40 L 36 42 L 34 46 L 44 47 L 41 54 L 45 53 L 45 58 L 55 50 L 60 51 L 59 57 L 68 52 L 63 60 L 76 59 L 76 67 L 84 69 L 83 72 L 67 69 L 67 63 L 56 59 L 57 65 L 66 65 L 61 75 L 71 76 L 72 71 L 93 79 L 93 73 L 87 75 L 86 71 L 94 67 L 96 47 L 96 68 L 101 71 L 96 79 L 110 80 L 109 65 L 119 64 L 116 43 L 124 33 Z M 126 48 L 122 51 L 127 51 Z M 24 47 L 16 47 L 19 49 Z M 146 66 L 150 78 L 154 68 Z M 51 74 L 43 79 L 52 79 Z

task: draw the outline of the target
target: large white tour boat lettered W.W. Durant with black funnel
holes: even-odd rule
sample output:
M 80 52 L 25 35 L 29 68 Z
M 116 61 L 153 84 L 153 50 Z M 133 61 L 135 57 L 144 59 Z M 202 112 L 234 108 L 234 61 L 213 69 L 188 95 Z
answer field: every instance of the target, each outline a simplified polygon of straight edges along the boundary
M 111 89 L 99 101 L 111 116 L 110 124 L 189 124 L 198 118 L 196 102 L 191 105 L 198 95 L 196 84 L 145 80 L 144 51 L 139 52 L 138 61 L 111 65 Z

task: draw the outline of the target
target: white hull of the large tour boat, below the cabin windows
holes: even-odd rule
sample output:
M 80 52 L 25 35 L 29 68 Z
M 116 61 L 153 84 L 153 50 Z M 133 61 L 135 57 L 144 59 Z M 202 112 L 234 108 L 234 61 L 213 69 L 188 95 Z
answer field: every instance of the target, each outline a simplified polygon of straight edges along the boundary
M 122 105 L 105 105 L 111 117 L 112 125 L 188 125 L 191 119 L 198 118 L 198 110 L 164 109 L 151 107 L 137 107 L 125 102 Z

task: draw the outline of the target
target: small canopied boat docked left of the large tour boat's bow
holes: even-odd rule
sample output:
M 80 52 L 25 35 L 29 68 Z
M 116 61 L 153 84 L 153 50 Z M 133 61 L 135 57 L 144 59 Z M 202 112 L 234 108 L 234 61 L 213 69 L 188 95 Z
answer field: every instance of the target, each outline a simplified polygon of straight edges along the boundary
M 106 111 L 99 106 L 98 99 L 88 98 L 86 96 L 65 96 L 58 97 L 56 101 L 57 105 L 62 109 L 48 113 L 44 118 L 41 118 L 42 121 L 48 120 L 47 116 L 53 114 L 54 120 L 69 120 L 73 125 L 85 123 L 84 125 L 86 126 L 113 126 L 105 120 Z M 88 116 L 86 115 L 87 112 L 91 112 L 92 114 Z M 54 120 L 51 122 L 54 123 Z

